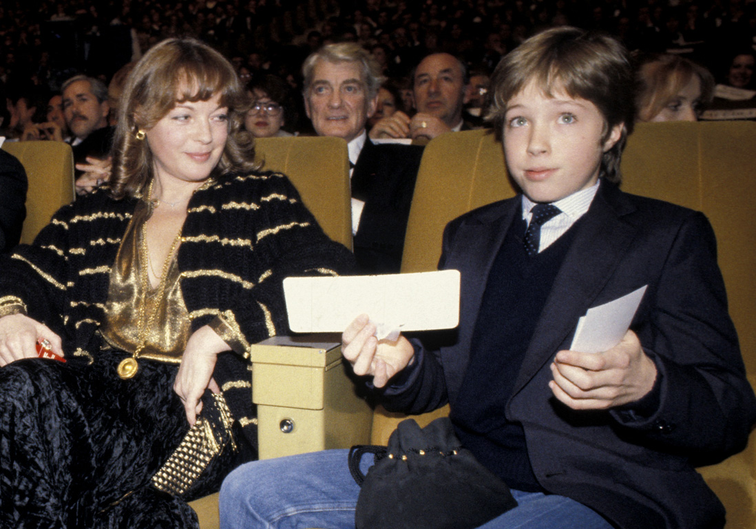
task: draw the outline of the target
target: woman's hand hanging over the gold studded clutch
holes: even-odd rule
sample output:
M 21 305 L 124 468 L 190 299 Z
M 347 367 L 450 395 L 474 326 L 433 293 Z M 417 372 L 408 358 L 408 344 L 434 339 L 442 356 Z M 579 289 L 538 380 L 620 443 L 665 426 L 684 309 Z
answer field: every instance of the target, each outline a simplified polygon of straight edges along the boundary
M 173 391 L 184 403 L 187 421 L 192 426 L 197 421 L 197 415 L 202 412 L 200 399 L 206 388 L 209 387 L 213 393 L 220 393 L 218 384 L 212 379 L 212 371 L 215 369 L 218 353 L 228 350 L 231 350 L 231 347 L 228 347 L 209 325 L 198 328 L 187 341 Z

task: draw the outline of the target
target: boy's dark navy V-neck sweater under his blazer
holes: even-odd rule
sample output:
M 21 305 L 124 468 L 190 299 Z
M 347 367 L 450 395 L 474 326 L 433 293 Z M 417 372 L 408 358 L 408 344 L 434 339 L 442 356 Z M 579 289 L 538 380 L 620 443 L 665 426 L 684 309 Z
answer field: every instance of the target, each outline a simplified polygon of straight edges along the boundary
M 528 257 L 522 243 L 525 227 L 524 220 L 513 223 L 488 275 L 452 419 L 457 436 L 476 459 L 510 487 L 535 492 L 542 489 L 528 460 L 522 425 L 508 421 L 504 409 L 575 230 Z

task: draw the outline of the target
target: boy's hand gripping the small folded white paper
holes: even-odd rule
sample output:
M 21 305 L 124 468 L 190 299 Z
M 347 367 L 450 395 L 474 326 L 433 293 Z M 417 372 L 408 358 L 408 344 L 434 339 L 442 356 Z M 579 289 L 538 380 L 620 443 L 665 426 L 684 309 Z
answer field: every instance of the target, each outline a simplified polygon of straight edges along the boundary
M 633 331 L 603 353 L 559 351 L 551 372 L 551 391 L 572 409 L 609 409 L 635 402 L 656 380 L 656 366 Z

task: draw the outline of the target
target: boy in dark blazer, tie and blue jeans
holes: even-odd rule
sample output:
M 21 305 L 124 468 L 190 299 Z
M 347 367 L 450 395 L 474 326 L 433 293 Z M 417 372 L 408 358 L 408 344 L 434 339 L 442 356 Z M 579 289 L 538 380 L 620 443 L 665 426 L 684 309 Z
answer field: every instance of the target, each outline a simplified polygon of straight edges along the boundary
M 451 403 L 463 446 L 518 502 L 486 529 L 724 524 L 692 465 L 745 446 L 756 400 L 708 221 L 615 185 L 631 86 L 621 45 L 595 33 L 549 30 L 508 54 L 492 115 L 522 194 L 447 226 L 454 342 L 378 343 L 365 316 L 342 336 L 386 408 Z M 620 344 L 569 350 L 587 309 L 643 286 Z M 354 527 L 358 493 L 345 451 L 256 462 L 225 482 L 222 524 Z

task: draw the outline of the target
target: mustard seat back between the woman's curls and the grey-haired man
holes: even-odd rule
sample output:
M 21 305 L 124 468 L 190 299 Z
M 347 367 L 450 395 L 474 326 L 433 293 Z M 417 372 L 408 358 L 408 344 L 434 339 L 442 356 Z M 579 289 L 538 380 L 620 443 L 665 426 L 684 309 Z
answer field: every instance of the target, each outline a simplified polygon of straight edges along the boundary
M 352 249 L 349 154 L 342 138 L 314 136 L 258 138 L 263 169 L 279 171 L 292 181 L 323 231 Z

